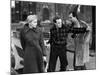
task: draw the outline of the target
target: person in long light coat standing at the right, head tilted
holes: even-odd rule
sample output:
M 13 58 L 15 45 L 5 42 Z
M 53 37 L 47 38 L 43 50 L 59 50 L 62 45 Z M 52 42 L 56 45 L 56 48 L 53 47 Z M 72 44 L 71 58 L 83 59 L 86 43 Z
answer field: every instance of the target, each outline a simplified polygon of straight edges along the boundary
M 86 69 L 85 63 L 89 62 L 89 40 L 90 40 L 90 28 L 87 24 L 80 24 L 76 13 L 70 13 L 70 21 L 74 27 L 86 28 L 87 31 L 81 34 L 74 34 L 75 54 L 74 54 L 74 69 L 84 70 Z M 82 22 L 82 21 L 81 21 Z

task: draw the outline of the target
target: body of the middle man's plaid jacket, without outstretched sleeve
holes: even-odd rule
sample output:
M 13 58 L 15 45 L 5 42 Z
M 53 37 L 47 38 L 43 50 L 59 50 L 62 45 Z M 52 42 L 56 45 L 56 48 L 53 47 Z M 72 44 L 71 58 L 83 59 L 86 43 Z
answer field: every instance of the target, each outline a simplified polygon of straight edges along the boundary
M 49 43 L 55 45 L 66 45 L 67 42 L 67 33 L 66 33 L 66 26 L 62 25 L 61 28 L 56 28 L 54 25 L 50 29 L 50 40 Z

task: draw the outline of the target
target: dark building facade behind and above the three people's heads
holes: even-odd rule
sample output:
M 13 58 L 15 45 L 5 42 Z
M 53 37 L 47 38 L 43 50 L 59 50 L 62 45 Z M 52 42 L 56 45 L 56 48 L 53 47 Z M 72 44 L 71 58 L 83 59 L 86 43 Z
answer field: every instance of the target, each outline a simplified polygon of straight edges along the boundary
M 47 2 L 15 1 L 15 8 L 11 8 L 11 22 L 24 21 L 30 14 L 37 14 L 41 21 L 50 20 L 59 15 L 62 19 L 68 18 L 68 13 L 75 8 L 72 4 Z M 92 21 L 92 7 L 81 5 L 80 19 Z

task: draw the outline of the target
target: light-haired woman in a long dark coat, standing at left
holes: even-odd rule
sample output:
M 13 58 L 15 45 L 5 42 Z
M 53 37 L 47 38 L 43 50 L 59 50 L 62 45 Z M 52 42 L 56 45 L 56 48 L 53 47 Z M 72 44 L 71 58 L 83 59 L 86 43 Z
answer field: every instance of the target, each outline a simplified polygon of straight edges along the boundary
M 20 33 L 21 45 L 25 51 L 23 73 L 41 73 L 44 72 L 43 56 L 46 56 L 43 36 L 37 29 L 36 15 L 29 15 L 27 22 Z

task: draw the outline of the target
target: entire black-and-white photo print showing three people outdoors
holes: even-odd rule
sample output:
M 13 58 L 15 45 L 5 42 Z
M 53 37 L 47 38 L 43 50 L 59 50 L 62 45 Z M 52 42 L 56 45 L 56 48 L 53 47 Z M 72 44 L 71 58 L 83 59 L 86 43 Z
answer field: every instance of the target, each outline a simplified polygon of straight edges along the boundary
M 10 73 L 96 70 L 96 6 L 10 0 Z

